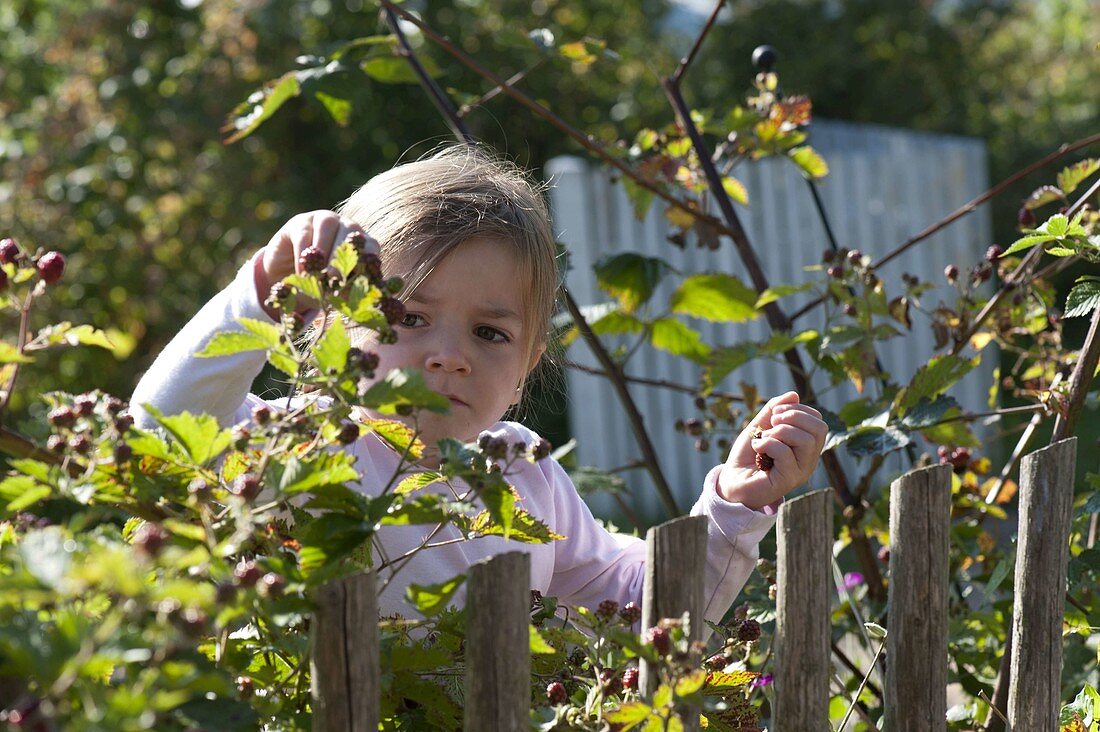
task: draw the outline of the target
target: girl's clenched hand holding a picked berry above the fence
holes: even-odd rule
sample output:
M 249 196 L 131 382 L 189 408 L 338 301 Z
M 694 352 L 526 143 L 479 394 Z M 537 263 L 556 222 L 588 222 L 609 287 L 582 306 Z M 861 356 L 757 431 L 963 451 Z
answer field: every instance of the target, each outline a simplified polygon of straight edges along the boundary
M 821 413 L 801 404 L 798 393 L 776 396 L 737 436 L 718 474 L 718 494 L 755 511 L 774 503 L 810 479 L 827 434 Z M 770 470 L 757 467 L 758 452 L 772 459 Z

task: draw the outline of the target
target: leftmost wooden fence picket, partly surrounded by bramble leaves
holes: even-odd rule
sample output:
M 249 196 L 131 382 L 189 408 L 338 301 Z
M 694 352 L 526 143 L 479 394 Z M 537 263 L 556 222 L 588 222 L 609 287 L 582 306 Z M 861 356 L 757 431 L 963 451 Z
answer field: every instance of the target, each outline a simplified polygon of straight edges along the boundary
M 374 732 L 382 676 L 374 572 L 322 584 L 315 600 L 314 732 Z

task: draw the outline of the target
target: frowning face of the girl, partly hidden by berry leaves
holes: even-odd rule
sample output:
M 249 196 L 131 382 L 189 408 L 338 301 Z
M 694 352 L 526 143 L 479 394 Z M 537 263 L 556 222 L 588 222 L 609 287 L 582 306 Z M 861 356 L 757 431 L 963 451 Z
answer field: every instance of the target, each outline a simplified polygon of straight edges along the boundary
M 447 255 L 405 302 L 397 342 L 378 346 L 380 368 L 417 368 L 451 401 L 449 414 L 416 417 L 429 448 L 444 437 L 472 441 L 520 396 L 544 350 L 531 351 L 522 310 L 522 276 L 513 249 L 475 237 Z M 409 424 L 413 417 L 408 418 Z

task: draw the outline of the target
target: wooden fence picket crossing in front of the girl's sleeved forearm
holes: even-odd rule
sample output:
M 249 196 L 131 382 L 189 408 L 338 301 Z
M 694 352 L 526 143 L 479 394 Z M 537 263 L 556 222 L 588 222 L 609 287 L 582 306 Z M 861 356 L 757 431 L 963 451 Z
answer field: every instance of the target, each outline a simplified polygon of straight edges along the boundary
M 641 591 L 642 632 L 663 618 L 689 613 L 689 637 L 704 637 L 703 579 L 706 569 L 706 517 L 681 516 L 646 533 L 646 582 Z M 639 664 L 638 688 L 657 688 L 657 674 Z M 698 729 L 698 714 L 683 714 L 684 730 Z

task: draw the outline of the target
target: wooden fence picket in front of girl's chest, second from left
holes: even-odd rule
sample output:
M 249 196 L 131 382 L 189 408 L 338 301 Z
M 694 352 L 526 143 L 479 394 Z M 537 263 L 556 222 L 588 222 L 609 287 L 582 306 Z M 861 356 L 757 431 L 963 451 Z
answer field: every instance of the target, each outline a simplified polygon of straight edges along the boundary
M 466 580 L 468 732 L 515 732 L 530 724 L 531 558 L 498 554 Z

